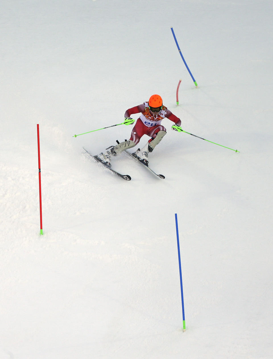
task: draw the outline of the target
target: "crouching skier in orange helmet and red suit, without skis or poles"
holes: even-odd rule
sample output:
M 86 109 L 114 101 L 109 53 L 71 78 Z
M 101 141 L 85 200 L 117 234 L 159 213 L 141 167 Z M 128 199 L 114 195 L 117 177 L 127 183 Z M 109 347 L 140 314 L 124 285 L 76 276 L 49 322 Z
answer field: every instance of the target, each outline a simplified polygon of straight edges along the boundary
M 181 121 L 167 107 L 163 106 L 162 98 L 159 95 L 152 95 L 148 102 L 127 109 L 124 114 L 125 120 L 132 120 L 130 117 L 134 113 L 141 113 L 131 132 L 130 140 L 125 140 L 116 146 L 108 147 L 108 151 L 100 153 L 98 157 L 111 167 L 111 159 L 119 155 L 122 151 L 135 147 L 143 135 L 151 137 L 142 149 L 137 149 L 135 154 L 141 162 L 148 165 L 148 153 L 152 152 L 157 144 L 166 135 L 166 129 L 161 125 L 163 118 L 167 117 L 175 125 L 172 130 L 177 129 L 174 126 L 180 126 Z

